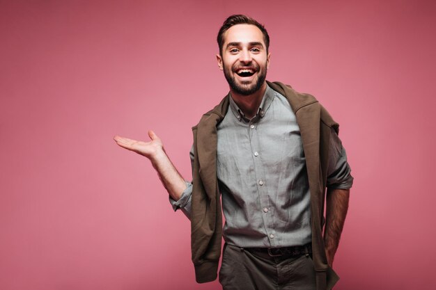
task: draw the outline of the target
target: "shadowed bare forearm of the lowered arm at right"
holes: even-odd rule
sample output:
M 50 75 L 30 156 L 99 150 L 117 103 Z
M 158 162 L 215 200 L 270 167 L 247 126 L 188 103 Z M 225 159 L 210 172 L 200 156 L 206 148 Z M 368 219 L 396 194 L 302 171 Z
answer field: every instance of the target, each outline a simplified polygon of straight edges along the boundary
M 325 251 L 332 266 L 350 200 L 349 189 L 329 189 L 327 191 L 326 223 L 324 232 Z

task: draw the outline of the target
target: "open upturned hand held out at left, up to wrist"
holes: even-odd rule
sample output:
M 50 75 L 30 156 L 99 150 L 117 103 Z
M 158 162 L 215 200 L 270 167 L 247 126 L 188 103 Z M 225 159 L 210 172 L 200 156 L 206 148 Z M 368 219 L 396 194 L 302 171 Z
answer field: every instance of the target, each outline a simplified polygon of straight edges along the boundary
M 143 156 L 146 156 L 148 159 L 153 160 L 159 152 L 164 152 L 164 145 L 162 144 L 162 140 L 155 134 L 153 131 L 148 131 L 148 136 L 151 141 L 143 142 L 138 140 L 132 140 L 129 138 L 124 138 L 116 135 L 114 140 L 116 144 L 120 147 L 123 147 L 127 150 L 137 152 Z

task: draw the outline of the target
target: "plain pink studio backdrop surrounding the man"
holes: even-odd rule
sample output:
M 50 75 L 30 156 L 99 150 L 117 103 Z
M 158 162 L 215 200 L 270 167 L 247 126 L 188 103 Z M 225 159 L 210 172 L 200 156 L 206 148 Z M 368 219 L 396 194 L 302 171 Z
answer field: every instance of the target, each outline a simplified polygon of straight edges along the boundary
M 224 0 L 0 2 L 0 289 L 220 289 L 196 284 L 189 221 L 112 137 L 154 129 L 191 178 L 233 13 L 270 31 L 267 79 L 341 123 L 336 289 L 435 289 L 435 2 Z

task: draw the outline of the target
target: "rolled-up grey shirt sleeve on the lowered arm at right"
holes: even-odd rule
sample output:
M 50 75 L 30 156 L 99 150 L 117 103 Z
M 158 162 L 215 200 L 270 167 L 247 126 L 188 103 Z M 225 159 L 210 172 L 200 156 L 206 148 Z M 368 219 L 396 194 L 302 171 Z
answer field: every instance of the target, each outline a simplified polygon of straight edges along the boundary
M 353 177 L 347 161 L 347 153 L 342 146 L 341 139 L 332 128 L 330 135 L 329 168 L 327 170 L 327 188 L 349 189 L 352 187 Z

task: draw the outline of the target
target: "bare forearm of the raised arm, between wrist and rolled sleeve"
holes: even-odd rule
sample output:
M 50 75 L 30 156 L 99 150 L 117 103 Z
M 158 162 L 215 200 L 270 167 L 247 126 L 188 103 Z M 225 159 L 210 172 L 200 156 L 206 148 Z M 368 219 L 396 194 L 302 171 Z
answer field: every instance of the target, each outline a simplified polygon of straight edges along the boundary
M 158 150 L 153 158 L 150 158 L 153 168 L 157 171 L 159 179 L 173 200 L 179 200 L 186 189 L 186 182 L 178 172 L 165 151 Z

